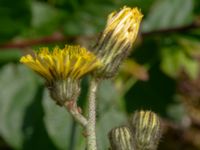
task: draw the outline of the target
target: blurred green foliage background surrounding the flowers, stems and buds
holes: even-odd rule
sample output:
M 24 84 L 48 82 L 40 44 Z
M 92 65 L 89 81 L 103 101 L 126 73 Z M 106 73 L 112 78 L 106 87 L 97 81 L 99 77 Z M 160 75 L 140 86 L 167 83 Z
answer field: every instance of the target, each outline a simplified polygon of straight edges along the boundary
M 199 0 L 0 0 L 0 149 L 85 149 L 84 131 L 19 58 L 40 46 L 91 49 L 107 15 L 124 5 L 139 7 L 144 18 L 131 56 L 100 86 L 99 149 L 136 109 L 163 118 L 159 149 L 200 149 Z M 85 108 L 88 78 L 82 86 Z

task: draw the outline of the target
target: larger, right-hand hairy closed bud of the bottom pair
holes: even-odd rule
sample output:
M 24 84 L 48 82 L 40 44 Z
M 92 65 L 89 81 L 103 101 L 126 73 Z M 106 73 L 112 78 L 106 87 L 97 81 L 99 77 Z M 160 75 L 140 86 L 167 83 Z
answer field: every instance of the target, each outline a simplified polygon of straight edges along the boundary
M 136 150 L 156 150 L 161 137 L 159 117 L 151 111 L 139 111 L 130 123 Z

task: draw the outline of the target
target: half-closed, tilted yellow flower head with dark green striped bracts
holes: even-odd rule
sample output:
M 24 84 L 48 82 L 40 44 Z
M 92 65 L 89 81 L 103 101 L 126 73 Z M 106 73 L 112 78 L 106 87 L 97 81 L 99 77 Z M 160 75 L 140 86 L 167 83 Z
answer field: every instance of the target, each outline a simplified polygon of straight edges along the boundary
M 124 7 L 108 16 L 105 30 L 94 47 L 103 67 L 96 71 L 101 78 L 113 77 L 127 57 L 137 37 L 142 14 L 138 8 Z

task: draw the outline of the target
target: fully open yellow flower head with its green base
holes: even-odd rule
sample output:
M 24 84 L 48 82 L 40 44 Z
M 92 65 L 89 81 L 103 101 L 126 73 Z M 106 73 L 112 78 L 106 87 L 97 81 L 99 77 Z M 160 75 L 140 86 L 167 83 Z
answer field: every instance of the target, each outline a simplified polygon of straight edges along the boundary
M 80 46 L 55 47 L 52 51 L 43 47 L 34 56 L 23 56 L 20 62 L 46 79 L 50 95 L 59 105 L 77 99 L 80 78 L 101 66 L 94 54 Z

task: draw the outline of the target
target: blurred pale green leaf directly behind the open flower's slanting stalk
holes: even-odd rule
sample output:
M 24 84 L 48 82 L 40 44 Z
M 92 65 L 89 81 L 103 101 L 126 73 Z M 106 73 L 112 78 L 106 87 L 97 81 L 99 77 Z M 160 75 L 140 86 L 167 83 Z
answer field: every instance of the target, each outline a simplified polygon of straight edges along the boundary
M 43 106 L 47 131 L 57 148 L 60 150 L 84 150 L 85 141 L 81 135 L 82 128 L 73 122 L 64 107 L 56 106 L 47 91 L 44 95 Z

